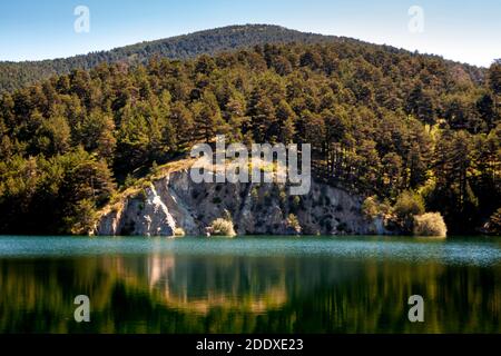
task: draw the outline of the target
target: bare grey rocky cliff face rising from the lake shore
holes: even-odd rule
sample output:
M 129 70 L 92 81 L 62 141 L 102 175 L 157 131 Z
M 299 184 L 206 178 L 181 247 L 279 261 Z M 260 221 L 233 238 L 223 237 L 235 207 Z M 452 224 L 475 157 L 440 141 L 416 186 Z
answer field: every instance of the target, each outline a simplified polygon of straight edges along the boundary
M 187 169 L 168 171 L 143 188 L 125 192 L 99 214 L 91 235 L 205 235 L 206 227 L 230 216 L 238 235 L 386 234 L 369 221 L 362 199 L 312 181 L 308 195 L 291 196 L 276 184 L 195 184 Z

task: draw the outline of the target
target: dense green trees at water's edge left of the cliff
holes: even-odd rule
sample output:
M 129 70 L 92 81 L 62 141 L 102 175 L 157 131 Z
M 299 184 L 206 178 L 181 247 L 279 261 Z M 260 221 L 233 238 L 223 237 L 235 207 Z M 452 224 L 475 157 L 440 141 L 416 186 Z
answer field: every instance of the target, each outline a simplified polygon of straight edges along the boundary
M 12 157 L 0 164 L 0 230 L 86 234 L 114 191 L 106 162 L 81 148 L 49 159 Z

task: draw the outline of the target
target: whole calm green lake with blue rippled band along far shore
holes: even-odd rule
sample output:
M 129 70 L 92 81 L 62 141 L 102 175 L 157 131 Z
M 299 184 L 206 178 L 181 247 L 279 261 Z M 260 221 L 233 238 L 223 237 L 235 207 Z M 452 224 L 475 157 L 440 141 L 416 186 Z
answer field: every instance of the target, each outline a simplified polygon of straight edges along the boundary
M 501 333 L 500 278 L 499 237 L 3 236 L 0 333 Z

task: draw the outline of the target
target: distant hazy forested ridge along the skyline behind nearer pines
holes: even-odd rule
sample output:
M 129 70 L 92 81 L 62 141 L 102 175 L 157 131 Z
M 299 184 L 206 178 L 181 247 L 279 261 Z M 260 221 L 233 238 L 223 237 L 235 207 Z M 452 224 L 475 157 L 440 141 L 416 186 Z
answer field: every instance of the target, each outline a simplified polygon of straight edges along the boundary
M 358 41 L 335 36 L 304 33 L 271 24 L 230 26 L 71 58 L 26 62 L 0 61 L 0 92 L 22 88 L 26 85 L 48 79 L 55 75 L 67 75 L 73 69 L 88 70 L 105 62 L 146 65 L 154 56 L 169 59 L 188 59 L 199 55 L 213 56 L 222 51 L 243 49 L 256 44 L 291 42 L 357 43 Z M 397 51 L 396 49 L 392 50 Z M 449 66 L 453 65 L 452 62 L 449 63 Z M 483 71 L 475 67 L 463 65 L 462 68 L 475 80 L 480 80 L 483 77 Z

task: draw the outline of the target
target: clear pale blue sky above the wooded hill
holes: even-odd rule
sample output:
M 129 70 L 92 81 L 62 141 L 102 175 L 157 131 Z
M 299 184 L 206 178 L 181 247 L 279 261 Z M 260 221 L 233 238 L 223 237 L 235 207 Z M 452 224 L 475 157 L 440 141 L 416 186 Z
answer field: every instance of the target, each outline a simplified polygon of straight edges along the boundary
M 75 31 L 77 6 L 90 11 L 89 32 Z M 412 6 L 423 10 L 422 32 L 409 29 Z M 347 36 L 485 67 L 501 58 L 501 0 L 0 0 L 0 60 L 69 57 L 245 23 Z

